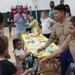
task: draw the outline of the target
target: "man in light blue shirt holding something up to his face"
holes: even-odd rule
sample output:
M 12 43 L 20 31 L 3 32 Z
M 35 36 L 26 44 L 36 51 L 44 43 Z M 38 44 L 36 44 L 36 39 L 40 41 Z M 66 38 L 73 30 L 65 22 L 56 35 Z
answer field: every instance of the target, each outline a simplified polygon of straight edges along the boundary
M 25 33 L 26 14 L 22 13 L 21 6 L 17 7 L 17 14 L 14 15 L 14 23 L 16 23 L 16 38 L 20 38 Z

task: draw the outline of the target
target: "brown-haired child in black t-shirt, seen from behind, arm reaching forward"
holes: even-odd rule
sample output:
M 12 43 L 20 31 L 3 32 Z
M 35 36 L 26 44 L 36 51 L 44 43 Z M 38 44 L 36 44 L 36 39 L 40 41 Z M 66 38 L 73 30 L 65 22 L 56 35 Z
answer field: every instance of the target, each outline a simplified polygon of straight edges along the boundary
M 5 58 L 7 54 L 8 38 L 6 36 L 0 35 L 0 67 L 2 75 L 27 75 L 29 72 L 33 72 L 33 69 L 30 68 L 22 74 L 19 74 L 13 63 L 11 63 Z

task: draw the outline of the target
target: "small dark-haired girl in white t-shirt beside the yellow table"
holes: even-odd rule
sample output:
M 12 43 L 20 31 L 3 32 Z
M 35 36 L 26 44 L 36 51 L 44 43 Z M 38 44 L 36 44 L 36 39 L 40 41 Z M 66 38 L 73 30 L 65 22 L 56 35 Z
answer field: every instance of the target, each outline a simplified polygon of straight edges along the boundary
M 23 73 L 23 61 L 30 53 L 25 54 L 24 50 L 22 49 L 22 41 L 21 39 L 13 39 L 13 47 L 14 47 L 14 55 L 16 59 L 16 66 L 19 73 Z

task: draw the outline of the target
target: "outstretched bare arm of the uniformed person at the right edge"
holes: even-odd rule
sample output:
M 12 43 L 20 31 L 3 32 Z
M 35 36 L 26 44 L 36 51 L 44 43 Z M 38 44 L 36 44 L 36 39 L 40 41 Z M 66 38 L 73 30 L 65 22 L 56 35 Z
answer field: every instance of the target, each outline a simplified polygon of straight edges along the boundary
M 69 39 L 69 37 L 67 37 L 67 39 L 65 40 L 65 42 L 63 43 L 63 45 L 59 49 L 57 49 L 52 54 L 50 54 L 49 56 L 45 57 L 44 59 L 42 59 L 40 61 L 40 65 L 45 64 L 49 59 L 54 58 L 58 54 L 61 54 L 62 52 L 67 50 L 69 48 L 69 41 L 70 41 L 70 39 Z

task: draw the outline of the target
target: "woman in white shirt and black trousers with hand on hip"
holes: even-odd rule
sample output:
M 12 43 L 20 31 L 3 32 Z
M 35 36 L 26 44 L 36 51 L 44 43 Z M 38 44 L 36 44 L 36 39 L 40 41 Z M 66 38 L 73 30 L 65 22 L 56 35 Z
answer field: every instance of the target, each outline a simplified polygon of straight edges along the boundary
M 41 12 L 41 23 L 42 23 L 42 34 L 49 38 L 50 34 L 52 32 L 51 30 L 51 24 L 55 24 L 56 22 L 48 17 L 47 13 L 45 11 Z

